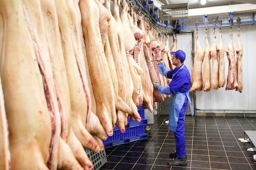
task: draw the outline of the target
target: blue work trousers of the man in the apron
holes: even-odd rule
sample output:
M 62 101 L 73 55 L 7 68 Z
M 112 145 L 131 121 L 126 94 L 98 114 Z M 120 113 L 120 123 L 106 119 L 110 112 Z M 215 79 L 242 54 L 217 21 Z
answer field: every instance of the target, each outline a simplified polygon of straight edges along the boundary
M 184 104 L 180 110 L 179 119 L 177 122 L 177 130 L 174 132 L 176 142 L 176 155 L 178 158 L 185 156 L 185 129 L 184 129 L 184 115 L 186 112 L 186 106 L 188 99 L 185 98 Z

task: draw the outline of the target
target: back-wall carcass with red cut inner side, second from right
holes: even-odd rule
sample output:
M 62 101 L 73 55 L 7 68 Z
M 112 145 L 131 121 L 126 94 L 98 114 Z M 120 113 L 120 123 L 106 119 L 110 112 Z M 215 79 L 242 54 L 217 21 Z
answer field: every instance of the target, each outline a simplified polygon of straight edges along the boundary
M 226 48 L 227 59 L 229 60 L 229 71 L 227 73 L 226 90 L 234 90 L 238 84 L 236 81 L 236 59 L 233 46 L 233 33 L 230 33 L 229 45 Z

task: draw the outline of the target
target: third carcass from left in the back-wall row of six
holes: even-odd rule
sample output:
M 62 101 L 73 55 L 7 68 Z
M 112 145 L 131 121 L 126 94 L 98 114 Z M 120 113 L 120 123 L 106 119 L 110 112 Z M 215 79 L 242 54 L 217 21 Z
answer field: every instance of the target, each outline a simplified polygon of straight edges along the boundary
M 218 52 L 216 43 L 216 33 L 213 34 L 213 44 L 210 47 L 210 55 L 212 61 L 211 68 L 211 89 L 218 90 L 219 88 L 219 62 L 218 62 Z

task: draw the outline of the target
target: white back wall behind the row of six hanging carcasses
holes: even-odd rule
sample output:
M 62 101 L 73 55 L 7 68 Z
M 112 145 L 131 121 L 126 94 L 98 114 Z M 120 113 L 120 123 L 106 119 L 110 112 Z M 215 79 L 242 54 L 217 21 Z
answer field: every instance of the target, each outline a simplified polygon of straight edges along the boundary
M 238 26 L 232 26 L 233 33 L 233 45 L 234 49 L 238 42 Z M 229 26 L 222 26 L 222 41 L 224 46 L 227 47 L 230 41 Z M 182 30 L 186 32 L 195 33 L 196 29 L 186 29 Z M 205 27 L 198 28 L 198 38 L 200 44 L 205 48 Z M 213 27 L 208 27 L 207 31 L 209 35 L 209 43 L 213 44 Z M 220 41 L 219 27 L 216 27 L 216 41 L 217 45 Z M 193 34 L 192 42 L 194 44 L 194 49 L 191 48 L 191 39 L 189 33 L 176 34 L 177 36 L 177 49 L 182 49 L 186 52 L 185 65 L 189 68 L 191 73 L 191 57 L 190 53 L 195 51 L 195 34 Z M 196 108 L 200 110 L 206 110 L 206 113 L 241 113 L 241 110 L 250 110 L 248 113 L 256 113 L 256 25 L 240 25 L 240 38 L 243 44 L 243 91 L 239 93 L 236 90 L 226 91 L 226 84 L 223 88 L 218 90 L 196 91 Z M 173 42 L 173 36 L 169 38 L 170 48 Z M 192 56 L 193 57 L 193 56 Z M 236 57 L 236 52 L 235 52 Z M 228 59 L 225 54 L 225 79 L 227 83 L 227 73 L 228 73 Z M 200 112 L 200 111 L 198 111 Z M 203 112 L 203 111 L 202 111 Z M 246 113 L 246 112 L 245 112 Z

